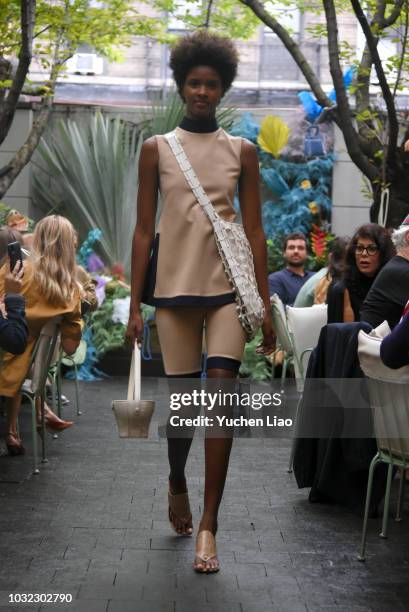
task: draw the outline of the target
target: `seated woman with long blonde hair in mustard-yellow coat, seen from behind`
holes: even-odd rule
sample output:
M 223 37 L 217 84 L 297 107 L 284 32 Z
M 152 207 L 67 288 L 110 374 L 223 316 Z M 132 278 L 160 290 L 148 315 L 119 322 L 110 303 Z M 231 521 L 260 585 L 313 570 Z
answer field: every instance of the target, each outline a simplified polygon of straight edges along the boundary
M 19 389 L 30 367 L 31 354 L 41 328 L 50 319 L 62 316 L 61 344 L 72 354 L 81 339 L 81 287 L 77 281 L 75 249 L 76 232 L 71 223 L 59 215 L 50 215 L 36 226 L 33 250 L 24 264 L 22 295 L 26 299 L 29 328 L 27 348 L 22 355 L 6 353 L 0 371 L 0 395 L 8 398 L 7 448 L 11 455 L 25 450 L 17 435 L 17 417 L 21 397 Z M 4 290 L 6 266 L 0 270 L 0 293 Z M 59 419 L 48 407 L 45 410 L 48 430 L 59 431 L 72 422 Z

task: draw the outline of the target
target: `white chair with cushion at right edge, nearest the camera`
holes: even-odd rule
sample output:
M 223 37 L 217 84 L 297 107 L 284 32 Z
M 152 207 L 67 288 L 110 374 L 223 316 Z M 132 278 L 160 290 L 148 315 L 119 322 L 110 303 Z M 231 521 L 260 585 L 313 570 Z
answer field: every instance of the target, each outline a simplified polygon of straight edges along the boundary
M 360 331 L 358 336 L 359 363 L 368 383 L 369 402 L 378 446 L 378 452 L 371 461 L 368 474 L 359 561 L 365 561 L 368 514 L 375 468 L 380 463 L 388 465 L 382 530 L 379 534 L 381 538 L 387 537 L 393 467 L 398 467 L 401 471 L 396 521 L 401 520 L 405 470 L 409 468 L 409 366 L 392 370 L 383 365 L 380 358 L 382 337 L 376 333 L 376 329 L 371 334 Z

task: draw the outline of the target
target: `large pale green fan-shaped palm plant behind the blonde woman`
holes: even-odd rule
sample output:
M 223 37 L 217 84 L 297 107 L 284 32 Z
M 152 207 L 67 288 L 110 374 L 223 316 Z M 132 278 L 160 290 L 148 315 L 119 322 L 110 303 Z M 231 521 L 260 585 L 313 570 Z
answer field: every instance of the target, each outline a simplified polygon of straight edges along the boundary
M 102 231 L 99 248 L 110 265 L 130 268 L 136 221 L 138 158 L 142 134 L 120 118 L 96 113 L 85 127 L 67 120 L 42 139 L 34 200 L 66 215 L 84 239 Z

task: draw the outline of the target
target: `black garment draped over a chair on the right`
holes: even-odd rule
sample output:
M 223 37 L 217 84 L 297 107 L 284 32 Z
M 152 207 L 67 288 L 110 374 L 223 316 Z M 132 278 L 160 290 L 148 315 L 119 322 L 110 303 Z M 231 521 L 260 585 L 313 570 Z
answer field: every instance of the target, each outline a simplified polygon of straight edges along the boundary
M 308 364 L 297 424 L 300 436 L 304 437 L 297 439 L 294 456 L 297 484 L 299 488 L 311 487 L 310 501 L 338 503 L 358 512 L 364 507 L 369 465 L 377 452 L 374 438 L 345 435 L 353 431 L 372 431 L 371 410 L 369 402 L 365 401 L 365 382 L 357 353 L 361 329 L 369 332 L 371 326 L 362 322 L 338 323 L 321 330 Z M 346 379 L 342 404 L 323 379 Z M 351 406 L 357 406 L 356 410 L 351 410 Z M 320 431 L 325 429 L 323 435 L 326 437 L 307 437 L 314 435 L 311 424 L 318 424 Z M 371 514 L 383 496 L 385 477 L 385 466 L 378 466 Z

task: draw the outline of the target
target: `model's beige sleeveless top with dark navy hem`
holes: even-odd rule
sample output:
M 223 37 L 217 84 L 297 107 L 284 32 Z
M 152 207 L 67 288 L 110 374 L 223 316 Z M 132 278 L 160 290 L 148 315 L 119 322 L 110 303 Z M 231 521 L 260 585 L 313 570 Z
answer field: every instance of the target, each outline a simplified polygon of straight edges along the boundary
M 222 128 L 176 128 L 180 143 L 218 214 L 234 221 L 242 138 Z M 156 236 L 156 306 L 220 305 L 234 301 L 213 228 L 196 201 L 164 136 L 157 136 L 162 211 Z

